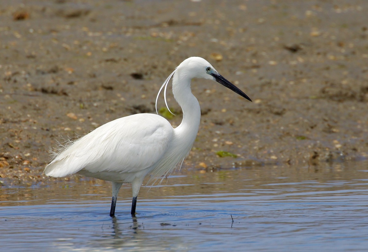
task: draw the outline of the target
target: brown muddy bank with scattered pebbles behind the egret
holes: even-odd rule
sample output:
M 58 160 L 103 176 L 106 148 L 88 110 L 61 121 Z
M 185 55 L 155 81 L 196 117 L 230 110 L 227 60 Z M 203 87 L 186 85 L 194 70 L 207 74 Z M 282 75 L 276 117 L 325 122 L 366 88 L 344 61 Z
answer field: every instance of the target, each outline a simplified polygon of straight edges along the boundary
M 194 80 L 202 119 L 183 169 L 368 156 L 367 1 L 0 2 L 5 185 L 50 179 L 47 151 L 61 136 L 154 113 L 160 85 L 189 56 L 253 102 Z

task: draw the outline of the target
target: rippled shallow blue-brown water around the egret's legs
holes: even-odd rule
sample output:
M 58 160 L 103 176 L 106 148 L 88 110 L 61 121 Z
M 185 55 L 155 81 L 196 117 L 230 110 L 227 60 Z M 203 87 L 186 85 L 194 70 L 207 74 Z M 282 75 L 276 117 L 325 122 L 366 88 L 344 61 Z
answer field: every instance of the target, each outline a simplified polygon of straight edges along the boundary
M 2 251 L 365 251 L 368 162 L 177 173 L 142 187 L 137 218 L 110 183 L 0 188 Z M 234 221 L 232 221 L 232 219 Z

